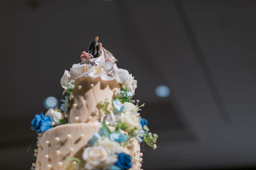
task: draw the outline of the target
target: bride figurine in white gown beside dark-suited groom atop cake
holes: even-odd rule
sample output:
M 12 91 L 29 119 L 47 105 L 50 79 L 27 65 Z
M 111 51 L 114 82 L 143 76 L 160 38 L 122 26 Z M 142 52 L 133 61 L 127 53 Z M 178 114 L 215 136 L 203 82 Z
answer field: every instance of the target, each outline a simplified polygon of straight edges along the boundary
M 114 55 L 102 46 L 102 43 L 99 43 L 99 45 L 97 45 L 96 55 L 97 55 L 96 58 L 90 59 L 90 62 L 94 62 L 96 65 L 99 65 L 102 62 L 111 61 L 115 63 L 117 61 Z

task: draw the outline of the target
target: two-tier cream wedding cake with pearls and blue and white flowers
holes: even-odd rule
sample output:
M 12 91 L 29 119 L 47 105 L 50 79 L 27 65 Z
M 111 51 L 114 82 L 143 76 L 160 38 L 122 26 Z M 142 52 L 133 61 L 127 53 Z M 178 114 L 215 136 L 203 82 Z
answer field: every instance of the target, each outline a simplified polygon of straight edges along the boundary
M 60 108 L 31 122 L 38 133 L 31 169 L 141 169 L 140 143 L 156 148 L 157 134 L 140 117 L 144 104 L 132 99 L 137 81 L 101 43 L 97 55 L 80 57 L 61 78 Z

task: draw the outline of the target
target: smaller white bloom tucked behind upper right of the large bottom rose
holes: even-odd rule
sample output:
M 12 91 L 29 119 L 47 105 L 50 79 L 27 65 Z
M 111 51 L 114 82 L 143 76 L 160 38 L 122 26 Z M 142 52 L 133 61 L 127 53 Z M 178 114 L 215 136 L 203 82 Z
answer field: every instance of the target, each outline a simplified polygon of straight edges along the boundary
M 104 146 L 111 155 L 122 152 L 119 143 L 111 141 L 109 138 L 99 139 L 97 143 L 100 146 Z

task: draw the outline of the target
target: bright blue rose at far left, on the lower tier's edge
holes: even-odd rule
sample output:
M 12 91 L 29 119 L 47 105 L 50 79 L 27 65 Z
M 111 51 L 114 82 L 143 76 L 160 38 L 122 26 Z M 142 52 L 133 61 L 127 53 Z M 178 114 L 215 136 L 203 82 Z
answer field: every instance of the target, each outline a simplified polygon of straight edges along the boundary
M 36 114 L 33 118 L 30 126 L 33 131 L 38 133 L 44 133 L 48 129 L 52 128 L 52 118 L 45 116 L 43 113 L 40 115 Z

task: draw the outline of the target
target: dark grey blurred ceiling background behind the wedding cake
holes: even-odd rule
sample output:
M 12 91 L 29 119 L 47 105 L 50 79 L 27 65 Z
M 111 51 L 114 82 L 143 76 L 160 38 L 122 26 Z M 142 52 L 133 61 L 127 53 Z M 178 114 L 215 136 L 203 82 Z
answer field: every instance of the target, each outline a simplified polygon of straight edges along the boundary
M 30 169 L 31 119 L 95 35 L 159 134 L 143 169 L 256 169 L 255 20 L 256 1 L 1 0 L 1 169 Z

